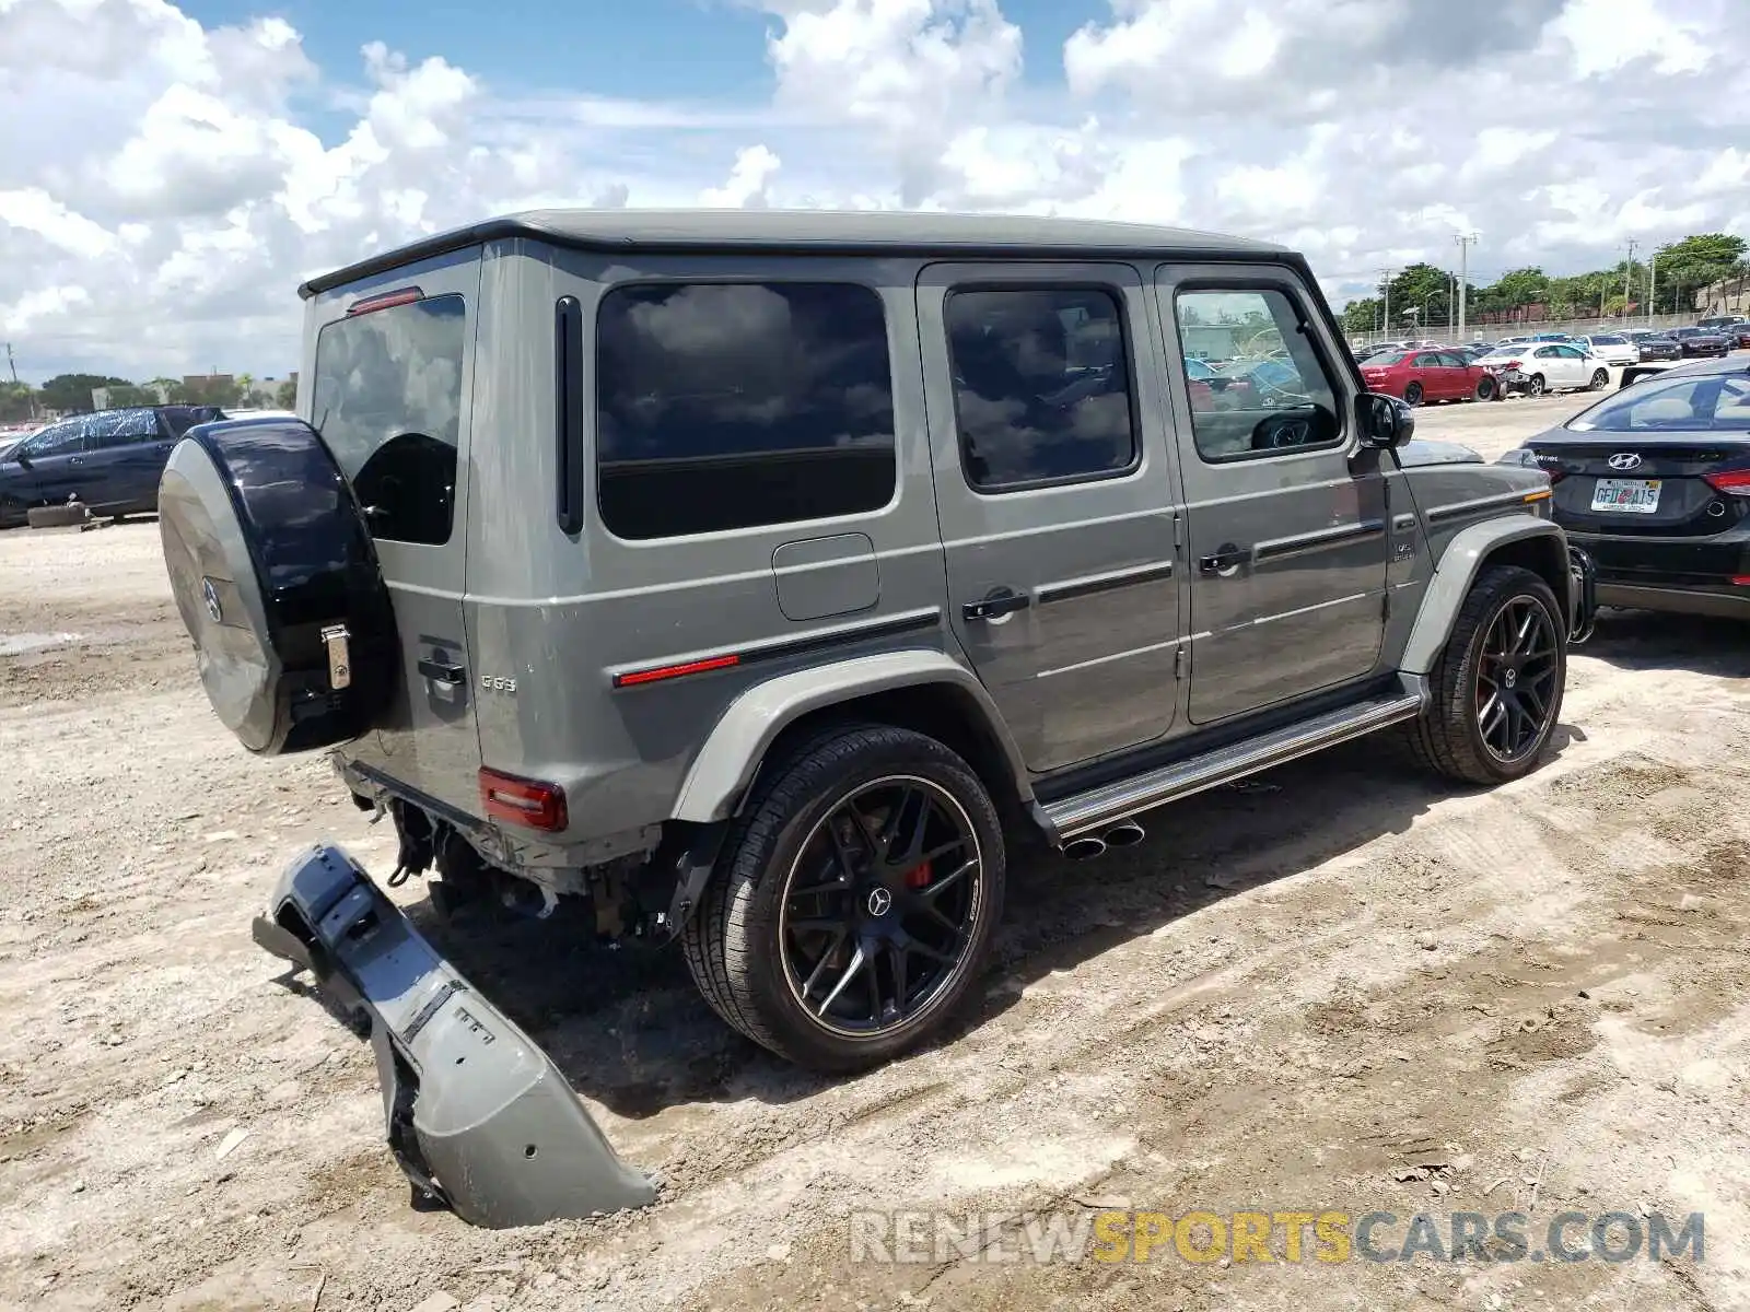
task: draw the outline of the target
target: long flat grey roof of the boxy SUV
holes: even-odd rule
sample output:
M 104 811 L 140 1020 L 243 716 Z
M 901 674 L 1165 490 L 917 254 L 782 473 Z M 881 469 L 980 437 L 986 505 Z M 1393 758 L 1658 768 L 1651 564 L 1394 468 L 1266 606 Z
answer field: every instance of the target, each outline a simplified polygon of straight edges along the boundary
M 1286 247 L 1188 227 L 1104 219 L 931 213 L 917 210 L 528 210 L 420 238 L 310 278 L 312 297 L 359 278 L 483 241 L 528 238 L 609 252 L 1195 255 L 1279 259 Z

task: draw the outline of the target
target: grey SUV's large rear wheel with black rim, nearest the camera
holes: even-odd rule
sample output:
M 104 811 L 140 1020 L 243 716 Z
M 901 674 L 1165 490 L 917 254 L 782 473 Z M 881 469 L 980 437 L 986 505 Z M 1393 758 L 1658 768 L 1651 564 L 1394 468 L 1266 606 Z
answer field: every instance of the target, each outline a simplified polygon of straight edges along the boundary
M 886 724 L 802 743 L 737 820 L 682 950 L 732 1027 L 798 1065 L 915 1048 L 978 980 L 1003 904 L 998 812 L 934 738 Z

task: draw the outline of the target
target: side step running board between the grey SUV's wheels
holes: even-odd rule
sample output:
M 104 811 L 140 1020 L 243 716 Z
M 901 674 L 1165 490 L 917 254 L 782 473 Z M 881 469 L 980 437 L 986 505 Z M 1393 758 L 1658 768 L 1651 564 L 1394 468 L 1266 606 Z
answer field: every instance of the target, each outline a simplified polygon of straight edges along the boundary
M 1124 820 L 1139 812 L 1160 806 L 1194 792 L 1230 784 L 1236 778 L 1255 775 L 1260 770 L 1293 761 L 1321 747 L 1360 738 L 1374 729 L 1414 719 L 1421 714 L 1424 691 L 1421 680 L 1407 680 L 1414 686 L 1404 693 L 1374 698 L 1340 710 L 1314 715 L 1309 721 L 1290 724 L 1272 733 L 1246 738 L 1228 747 L 1218 747 L 1186 761 L 1174 761 L 1155 770 L 1148 770 L 1130 778 L 1078 792 L 1059 801 L 1046 803 L 1043 819 L 1050 826 L 1052 836 L 1062 843 L 1090 829 L 1102 829 L 1116 820 Z

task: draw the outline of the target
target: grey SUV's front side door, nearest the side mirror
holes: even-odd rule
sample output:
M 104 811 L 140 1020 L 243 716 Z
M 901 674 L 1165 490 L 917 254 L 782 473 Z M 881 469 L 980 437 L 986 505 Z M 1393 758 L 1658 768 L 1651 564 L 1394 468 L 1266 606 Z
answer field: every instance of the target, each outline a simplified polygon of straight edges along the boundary
M 1174 371 L 1192 722 L 1372 673 L 1384 635 L 1384 481 L 1377 460 L 1354 458 L 1353 387 L 1311 290 L 1283 269 L 1162 266 L 1157 296 L 1169 334 L 1227 329 L 1236 348 L 1297 380 L 1209 409 L 1190 404 Z M 1172 343 L 1167 359 L 1178 359 Z

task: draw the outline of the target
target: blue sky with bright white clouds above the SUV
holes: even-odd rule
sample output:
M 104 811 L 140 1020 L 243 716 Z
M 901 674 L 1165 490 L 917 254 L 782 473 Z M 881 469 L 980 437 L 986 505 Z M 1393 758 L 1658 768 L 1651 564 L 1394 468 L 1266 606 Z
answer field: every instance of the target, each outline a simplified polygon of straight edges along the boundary
M 1750 0 L 0 0 L 23 376 L 296 367 L 296 283 L 534 205 L 1027 210 L 1572 273 L 1750 236 Z

